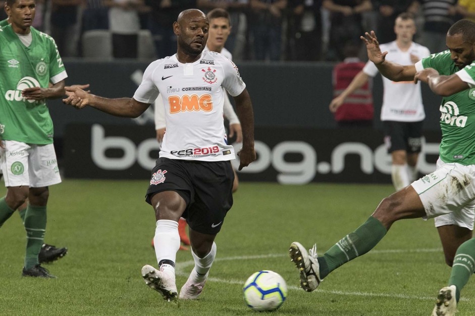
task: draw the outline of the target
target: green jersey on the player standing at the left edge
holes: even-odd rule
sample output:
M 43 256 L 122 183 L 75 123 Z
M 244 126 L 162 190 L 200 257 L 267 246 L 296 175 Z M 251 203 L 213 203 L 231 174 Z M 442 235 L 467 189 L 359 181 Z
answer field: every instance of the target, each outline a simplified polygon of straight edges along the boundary
M 26 100 L 25 88 L 47 88 L 67 78 L 56 43 L 33 27 L 26 47 L 11 25 L 0 29 L 0 136 L 27 144 L 51 144 L 53 124 L 46 100 Z

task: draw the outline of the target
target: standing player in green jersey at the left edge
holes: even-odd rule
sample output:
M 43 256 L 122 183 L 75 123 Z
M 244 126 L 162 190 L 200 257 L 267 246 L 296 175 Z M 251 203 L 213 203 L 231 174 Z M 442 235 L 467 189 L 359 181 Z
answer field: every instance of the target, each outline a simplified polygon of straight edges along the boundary
M 55 41 L 31 27 L 35 7 L 35 0 L 7 0 L 10 24 L 0 29 L 0 166 L 8 188 L 0 199 L 0 226 L 29 200 L 22 274 L 50 278 L 54 276 L 39 265 L 38 254 L 46 228 L 48 185 L 61 182 L 61 177 L 45 99 L 64 95 L 67 74 Z

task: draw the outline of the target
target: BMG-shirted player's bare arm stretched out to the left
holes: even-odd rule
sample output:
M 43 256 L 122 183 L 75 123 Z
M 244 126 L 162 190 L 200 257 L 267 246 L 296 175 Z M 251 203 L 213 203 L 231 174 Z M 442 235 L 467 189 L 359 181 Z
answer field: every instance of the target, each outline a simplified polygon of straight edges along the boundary
M 90 106 L 114 116 L 138 117 L 150 106 L 134 98 L 109 99 L 87 93 L 79 88 L 65 88 L 65 90 L 73 94 L 63 99 L 64 104 L 71 104 L 77 109 Z

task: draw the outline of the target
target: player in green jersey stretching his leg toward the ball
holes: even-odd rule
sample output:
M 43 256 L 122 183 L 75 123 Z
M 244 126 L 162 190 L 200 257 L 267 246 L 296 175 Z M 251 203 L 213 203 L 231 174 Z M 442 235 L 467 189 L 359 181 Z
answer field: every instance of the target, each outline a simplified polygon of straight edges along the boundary
M 313 291 L 329 273 L 370 251 L 391 225 L 401 219 L 435 218 L 446 263 L 452 267 L 439 291 L 433 316 L 453 316 L 460 291 L 475 272 L 475 23 L 460 20 L 446 36 L 448 50 L 402 66 L 386 59 L 375 32 L 365 33 L 368 57 L 393 81 L 423 81 L 443 96 L 440 105 L 442 141 L 437 170 L 383 199 L 372 216 L 325 252 L 309 253 L 298 242 L 290 257 L 300 271 L 301 286 Z M 408 313 L 410 314 L 410 312 Z

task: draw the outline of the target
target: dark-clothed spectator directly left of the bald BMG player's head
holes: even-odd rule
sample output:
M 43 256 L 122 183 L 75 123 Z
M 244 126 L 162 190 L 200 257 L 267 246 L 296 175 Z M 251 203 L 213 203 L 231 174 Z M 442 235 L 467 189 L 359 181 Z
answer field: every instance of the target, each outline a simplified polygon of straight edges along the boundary
M 173 22 L 183 10 L 194 8 L 196 0 L 146 0 L 151 8 L 148 14 L 148 29 L 152 33 L 158 58 L 177 52 L 177 39 L 173 33 Z

